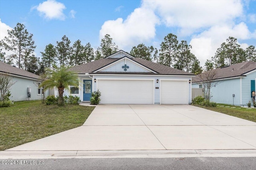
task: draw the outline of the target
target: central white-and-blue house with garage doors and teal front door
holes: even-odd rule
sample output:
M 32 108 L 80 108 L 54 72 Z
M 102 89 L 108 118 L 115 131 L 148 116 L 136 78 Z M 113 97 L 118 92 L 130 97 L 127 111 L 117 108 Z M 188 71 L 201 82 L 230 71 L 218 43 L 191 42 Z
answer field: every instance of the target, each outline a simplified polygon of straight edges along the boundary
M 64 95 L 90 101 L 100 90 L 100 104 L 190 104 L 191 79 L 182 70 L 118 51 L 104 59 L 70 68 L 77 72 L 79 88 L 71 86 Z

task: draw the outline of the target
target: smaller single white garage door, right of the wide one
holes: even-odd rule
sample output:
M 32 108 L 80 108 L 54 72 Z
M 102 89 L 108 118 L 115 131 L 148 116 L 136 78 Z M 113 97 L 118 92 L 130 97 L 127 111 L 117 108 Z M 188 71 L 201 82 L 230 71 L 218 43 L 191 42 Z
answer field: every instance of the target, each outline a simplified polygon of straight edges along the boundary
M 188 81 L 161 80 L 161 104 L 188 104 Z

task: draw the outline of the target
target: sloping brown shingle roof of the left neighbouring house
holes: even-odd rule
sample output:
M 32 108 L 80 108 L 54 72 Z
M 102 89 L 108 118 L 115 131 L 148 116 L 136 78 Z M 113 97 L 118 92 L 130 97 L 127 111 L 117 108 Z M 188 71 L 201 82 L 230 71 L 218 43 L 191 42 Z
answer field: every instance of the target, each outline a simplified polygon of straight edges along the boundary
M 3 63 L 1 61 L 0 61 L 0 72 L 14 74 L 14 75 L 18 75 L 18 76 L 24 76 L 24 77 L 28 77 L 28 78 L 35 78 L 35 79 L 40 80 L 40 76 L 38 76 L 32 72 L 22 70 L 21 68 L 11 66 L 11 65 Z

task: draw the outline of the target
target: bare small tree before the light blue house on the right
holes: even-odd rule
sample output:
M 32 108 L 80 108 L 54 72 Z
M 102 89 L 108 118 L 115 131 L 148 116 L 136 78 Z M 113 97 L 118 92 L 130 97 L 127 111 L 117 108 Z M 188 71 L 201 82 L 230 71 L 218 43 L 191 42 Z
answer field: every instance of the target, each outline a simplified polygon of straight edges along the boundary
M 199 85 L 202 85 L 205 93 L 205 100 L 210 101 L 211 96 L 211 88 L 220 84 L 220 81 L 216 81 L 219 78 L 216 70 L 206 71 L 204 73 L 198 74 L 200 79 Z

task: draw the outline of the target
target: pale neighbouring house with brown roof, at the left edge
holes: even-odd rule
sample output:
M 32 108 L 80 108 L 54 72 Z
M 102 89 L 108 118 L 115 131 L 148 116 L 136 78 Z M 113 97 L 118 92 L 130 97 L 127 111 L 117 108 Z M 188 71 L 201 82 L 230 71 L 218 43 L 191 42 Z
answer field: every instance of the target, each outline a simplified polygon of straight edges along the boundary
M 3 63 L 0 61 L 0 74 L 12 76 L 12 81 L 15 82 L 11 86 L 10 100 L 13 101 L 22 101 L 22 100 L 40 100 L 42 95 L 42 88 L 38 88 L 38 85 L 42 80 L 40 76 L 16 68 L 9 64 Z M 31 97 L 28 98 L 28 88 L 31 88 Z M 47 94 L 47 92 L 46 92 Z M 48 96 L 48 95 L 46 95 Z

